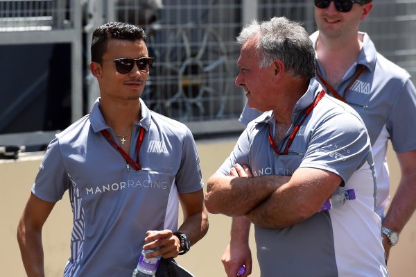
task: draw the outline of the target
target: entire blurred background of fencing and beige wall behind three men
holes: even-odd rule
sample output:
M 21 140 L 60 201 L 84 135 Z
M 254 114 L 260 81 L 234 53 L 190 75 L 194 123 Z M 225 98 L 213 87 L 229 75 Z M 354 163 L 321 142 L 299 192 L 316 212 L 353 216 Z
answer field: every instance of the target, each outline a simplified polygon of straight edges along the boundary
M 361 24 L 386 58 L 416 74 L 416 0 L 374 0 Z M 205 180 L 243 130 L 244 92 L 234 85 L 241 27 L 285 16 L 315 31 L 311 0 L 0 0 L 0 265 L 24 276 L 15 239 L 43 151 L 55 133 L 92 108 L 98 85 L 89 72 L 94 29 L 105 22 L 139 24 L 156 61 L 142 95 L 156 112 L 187 124 Z M 213 151 L 215 149 L 215 151 Z M 391 149 L 391 147 L 390 147 Z M 390 153 L 392 183 L 399 167 Z M 394 187 L 393 187 L 394 192 Z M 62 276 L 69 256 L 71 210 L 64 199 L 45 226 L 48 276 Z M 61 210 L 60 210 L 61 209 Z M 415 215 L 392 250 L 390 276 L 416 276 Z M 179 262 L 196 276 L 224 276 L 220 256 L 229 218 L 211 215 L 207 237 Z M 250 239 L 255 251 L 254 241 Z M 259 276 L 254 265 L 252 276 Z

